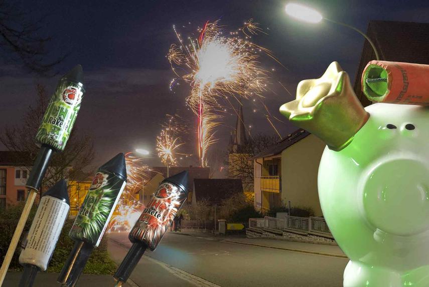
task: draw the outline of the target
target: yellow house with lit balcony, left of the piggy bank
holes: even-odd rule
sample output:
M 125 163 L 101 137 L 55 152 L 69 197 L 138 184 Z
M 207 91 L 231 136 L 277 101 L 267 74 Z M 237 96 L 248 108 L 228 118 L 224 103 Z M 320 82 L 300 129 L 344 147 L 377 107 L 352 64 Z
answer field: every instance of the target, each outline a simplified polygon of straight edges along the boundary
M 325 146 L 299 129 L 252 157 L 255 208 L 265 212 L 290 201 L 292 207 L 310 207 L 321 216 L 317 174 Z

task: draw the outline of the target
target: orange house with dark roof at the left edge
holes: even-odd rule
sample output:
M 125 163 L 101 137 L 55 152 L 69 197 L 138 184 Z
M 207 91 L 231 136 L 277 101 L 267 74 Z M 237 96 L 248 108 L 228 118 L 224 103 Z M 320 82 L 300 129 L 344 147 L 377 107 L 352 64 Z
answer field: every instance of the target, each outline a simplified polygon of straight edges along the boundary
M 28 161 L 31 159 L 25 152 L 0 151 L 0 209 L 26 200 L 25 185 L 30 175 Z

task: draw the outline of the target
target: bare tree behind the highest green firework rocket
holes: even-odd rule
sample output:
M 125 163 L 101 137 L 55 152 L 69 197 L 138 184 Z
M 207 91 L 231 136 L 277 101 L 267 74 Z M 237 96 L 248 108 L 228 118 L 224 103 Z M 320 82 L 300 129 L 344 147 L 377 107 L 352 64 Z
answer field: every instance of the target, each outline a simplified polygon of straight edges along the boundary
M 0 133 L 0 142 L 10 151 L 16 151 L 18 160 L 28 169 L 39 151 L 35 137 L 49 98 L 45 88 L 37 85 L 37 103 L 29 107 L 19 126 L 6 126 Z M 61 153 L 54 153 L 42 187 L 50 187 L 61 178 L 83 179 L 87 176 L 82 170 L 94 158 L 93 140 L 89 135 L 78 135 L 76 127 L 72 130 L 67 146 Z M 83 177 L 83 178 L 77 178 Z

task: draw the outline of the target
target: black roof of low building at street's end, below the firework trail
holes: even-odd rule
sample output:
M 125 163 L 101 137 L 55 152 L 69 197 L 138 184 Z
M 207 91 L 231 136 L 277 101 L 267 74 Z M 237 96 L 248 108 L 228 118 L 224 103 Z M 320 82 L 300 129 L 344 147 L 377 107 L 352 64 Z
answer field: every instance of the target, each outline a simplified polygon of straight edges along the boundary
M 241 179 L 231 178 L 196 178 L 194 188 L 192 196 L 195 196 L 196 201 L 207 199 L 211 204 L 220 204 L 232 194 L 243 192 Z

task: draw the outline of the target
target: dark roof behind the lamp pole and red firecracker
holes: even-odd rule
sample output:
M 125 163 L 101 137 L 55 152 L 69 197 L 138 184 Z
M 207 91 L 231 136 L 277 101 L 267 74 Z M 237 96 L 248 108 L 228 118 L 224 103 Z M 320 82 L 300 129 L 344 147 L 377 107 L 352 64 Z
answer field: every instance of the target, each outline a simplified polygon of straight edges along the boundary
M 429 23 L 370 21 L 366 34 L 374 42 L 380 60 L 429 64 Z M 366 64 L 374 59 L 375 53 L 365 41 L 354 85 L 364 106 L 371 102 L 362 92 L 361 76 Z

